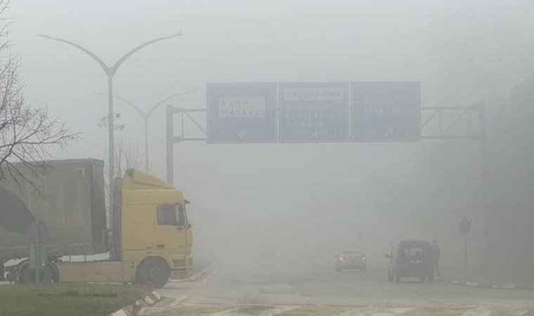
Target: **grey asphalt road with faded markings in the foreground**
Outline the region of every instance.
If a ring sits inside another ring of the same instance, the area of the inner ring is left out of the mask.
[[[534,291],[390,283],[379,272],[228,272],[171,282],[142,315],[523,315]]]

